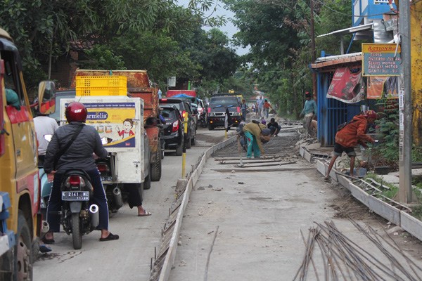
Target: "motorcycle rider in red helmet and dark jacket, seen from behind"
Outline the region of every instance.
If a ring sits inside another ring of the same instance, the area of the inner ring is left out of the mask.
[[[97,229],[101,230],[100,241],[119,239],[119,235],[114,235],[108,231],[106,193],[104,192],[100,174],[93,157],[94,153],[98,157],[107,157],[108,152],[103,148],[101,138],[96,129],[93,126],[85,126],[84,122],[87,119],[87,114],[87,109],[82,103],[69,103],[65,110],[68,124],[60,126],[56,130],[46,151],[44,170],[46,173],[54,173],[53,188],[51,188],[49,204],[47,206],[47,221],[49,222],[50,230],[43,238],[43,242],[46,244],[52,244],[54,242],[53,233],[60,230],[60,217],[57,215],[62,204],[60,184],[63,174],[70,169],[82,169],[91,178],[91,183],[94,187],[93,201],[94,204],[98,205],[99,209],[99,224]],[[80,126],[82,126],[82,129]],[[63,152],[61,156],[57,155],[60,147],[64,147],[78,129],[81,129],[79,135],[75,138],[75,141],[73,141],[68,150]],[[55,162],[56,155],[58,159]]]

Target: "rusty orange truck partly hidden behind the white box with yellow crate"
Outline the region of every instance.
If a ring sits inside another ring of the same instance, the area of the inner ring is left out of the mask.
[[[78,77],[127,77],[127,96],[142,98],[143,122],[151,150],[151,181],[160,181],[161,160],[164,157],[164,141],[162,131],[158,126],[158,88],[150,84],[146,70],[76,70],[72,86],[76,85]]]

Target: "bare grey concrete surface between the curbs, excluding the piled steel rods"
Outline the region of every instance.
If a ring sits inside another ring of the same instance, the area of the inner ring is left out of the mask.
[[[293,152],[293,138],[297,141],[294,132],[285,132],[265,145],[269,151],[279,148],[274,154],[286,154],[277,166],[258,163],[260,159],[239,168],[231,164],[238,161],[234,159],[238,157],[235,145],[207,160],[184,212],[169,280],[293,280],[305,256],[309,228],[325,221],[333,222],[350,240],[389,263],[347,214],[362,226],[370,225],[385,239],[390,232],[422,266],[418,240],[405,237],[399,228],[371,214],[341,185],[322,181],[321,164],[309,164],[298,157]],[[224,153],[233,158],[215,161]],[[316,268],[324,273],[323,263],[316,263]],[[316,280],[312,271],[309,267],[309,280]]]

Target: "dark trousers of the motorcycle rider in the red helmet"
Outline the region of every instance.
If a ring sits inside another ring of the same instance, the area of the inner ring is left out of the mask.
[[[99,224],[97,229],[108,229],[108,206],[106,192],[104,192],[103,183],[101,183],[100,172],[97,169],[86,171],[91,178],[91,184],[94,188],[92,202],[98,205]],[[49,205],[47,206],[47,221],[50,225],[50,231],[58,233],[60,231],[60,216],[56,213],[62,206],[60,185],[63,174],[54,175],[53,188],[51,188]],[[55,214],[51,214],[54,212]]]

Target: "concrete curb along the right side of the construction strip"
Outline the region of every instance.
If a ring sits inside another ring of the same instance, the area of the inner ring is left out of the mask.
[[[304,156],[307,154],[310,155],[310,152],[307,151],[305,147],[301,147],[300,155],[302,155],[303,158],[307,159],[309,163],[312,163],[312,157],[309,161],[309,157]],[[319,173],[324,176],[328,169],[328,164],[317,160],[316,169],[319,171]],[[418,240],[422,241],[422,221],[418,220],[417,218],[414,218],[410,214],[407,214],[407,212],[402,211],[401,209],[395,206],[392,206],[391,204],[383,202],[383,200],[380,200],[377,197],[369,195],[367,192],[359,188],[359,186],[354,185],[349,178],[335,174],[334,169],[331,170],[330,177],[333,181],[340,183],[345,188],[350,190],[353,197],[362,202],[362,204],[371,209],[371,211],[378,214],[379,216],[382,216],[391,223],[394,223],[396,226],[400,226],[408,233],[416,237]]]

